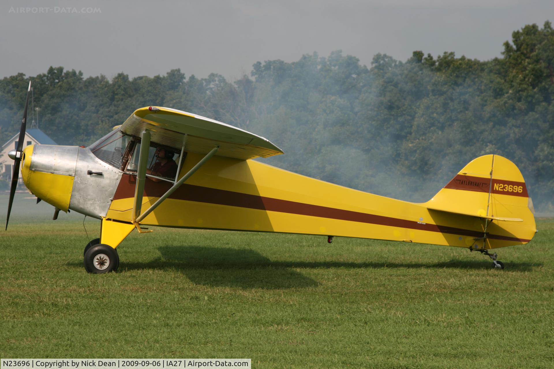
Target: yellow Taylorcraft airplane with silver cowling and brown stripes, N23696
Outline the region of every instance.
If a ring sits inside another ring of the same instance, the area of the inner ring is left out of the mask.
[[[29,84],[30,86],[30,84]],[[25,117],[20,135],[25,132]],[[282,154],[267,139],[213,119],[143,107],[90,147],[13,150],[27,188],[59,210],[101,220],[84,251],[90,273],[116,271],[116,247],[143,226],[301,233],[431,243],[490,256],[536,233],[523,176],[500,155],[472,160],[427,202],[389,199],[252,160]],[[177,156],[176,156],[177,155]],[[39,201],[39,200],[37,200]]]

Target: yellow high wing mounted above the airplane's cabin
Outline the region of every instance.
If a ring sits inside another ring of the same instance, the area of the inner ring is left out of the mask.
[[[141,137],[150,130],[152,141],[198,154],[219,147],[217,155],[235,159],[267,158],[283,154],[269,140],[254,133],[206,117],[166,107],[150,106],[135,110],[120,131]]]

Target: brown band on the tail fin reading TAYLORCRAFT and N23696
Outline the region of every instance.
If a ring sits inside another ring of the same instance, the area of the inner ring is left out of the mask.
[[[521,196],[528,198],[525,182],[509,181],[493,178],[490,186],[490,178],[475,177],[472,175],[458,174],[444,188],[452,190],[477,191],[493,194]]]

